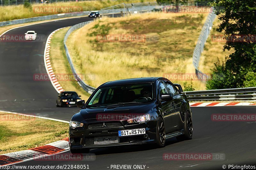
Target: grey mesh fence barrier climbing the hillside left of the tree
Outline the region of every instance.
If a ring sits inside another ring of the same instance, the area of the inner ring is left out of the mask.
[[[202,71],[200,71],[198,69],[198,67],[199,67],[199,61],[200,61],[201,54],[204,51],[204,44],[206,43],[206,40],[210,34],[210,31],[212,29],[212,24],[213,24],[213,21],[215,18],[216,18],[216,14],[214,13],[213,8],[212,8],[212,12],[209,13],[209,15],[204,23],[202,31],[197,40],[195,50],[193,52],[193,65],[196,69],[196,75],[198,78],[207,77],[207,75],[204,74]],[[201,79],[201,81],[205,81],[205,79]]]

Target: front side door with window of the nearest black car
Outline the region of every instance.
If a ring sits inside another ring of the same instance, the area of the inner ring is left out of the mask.
[[[162,94],[169,93],[163,81],[159,83],[158,91],[159,91],[160,99]],[[173,100],[161,101],[161,104],[162,104],[162,112],[164,114],[165,132],[166,134],[171,133],[173,132],[173,129],[172,129]]]

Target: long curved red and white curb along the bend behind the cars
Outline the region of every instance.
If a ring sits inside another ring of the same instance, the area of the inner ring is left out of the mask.
[[[66,27],[63,27],[63,28],[66,28]],[[47,41],[46,41],[46,45],[45,45],[45,49],[44,49],[44,65],[45,65],[45,69],[46,69],[46,72],[50,78],[50,81],[52,83],[52,86],[55,88],[55,90],[60,93],[60,92],[63,92],[64,89],[61,87],[60,83],[58,82],[58,80],[56,79],[56,76],[52,70],[52,65],[51,65],[51,61],[50,61],[50,49],[51,49],[51,46],[50,46],[50,43],[51,43],[51,39],[52,39],[52,35],[54,33],[56,33],[57,31],[63,29],[63,28],[59,28],[55,31],[53,31],[47,38]]]

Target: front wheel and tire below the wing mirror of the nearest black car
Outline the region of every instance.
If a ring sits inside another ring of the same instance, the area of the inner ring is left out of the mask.
[[[156,125],[156,145],[158,147],[164,147],[166,136],[165,136],[164,120],[160,117]]]

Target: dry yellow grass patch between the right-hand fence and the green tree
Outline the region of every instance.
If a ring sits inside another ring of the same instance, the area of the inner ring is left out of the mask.
[[[224,34],[224,32],[219,33],[216,31],[216,28],[218,27],[220,22],[221,21],[218,18],[216,18],[213,22],[212,31],[205,43],[204,51],[200,57],[199,70],[201,70],[203,73],[210,74],[212,72],[211,69],[214,68],[214,63],[217,62],[218,58],[220,59],[220,61],[225,61],[225,57],[229,56],[231,53],[234,52],[233,49],[231,49],[230,51],[226,50],[224,52],[223,46],[226,42],[217,42],[213,38],[213,36],[221,36]]]

